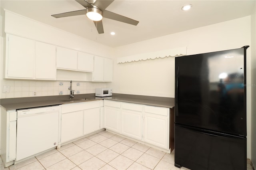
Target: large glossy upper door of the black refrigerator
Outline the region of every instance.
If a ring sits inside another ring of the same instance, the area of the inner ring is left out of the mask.
[[[244,48],[175,58],[175,123],[246,136]]]

